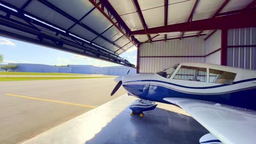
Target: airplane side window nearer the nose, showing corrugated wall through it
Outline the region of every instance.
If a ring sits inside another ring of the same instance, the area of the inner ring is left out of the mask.
[[[173,79],[206,82],[206,68],[182,65]]]

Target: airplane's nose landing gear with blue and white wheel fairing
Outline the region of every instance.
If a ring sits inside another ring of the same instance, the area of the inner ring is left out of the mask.
[[[129,106],[129,108],[132,110],[131,116],[139,114],[140,117],[143,117],[144,116],[143,111],[154,110],[157,105],[158,104],[155,104],[154,101],[150,101],[150,100],[144,100],[144,99],[135,100]]]

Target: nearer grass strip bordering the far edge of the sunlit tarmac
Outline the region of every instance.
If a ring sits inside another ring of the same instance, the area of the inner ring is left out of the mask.
[[[0,81],[33,81],[33,80],[67,80],[67,79],[98,79],[100,76],[88,77],[0,77]]]

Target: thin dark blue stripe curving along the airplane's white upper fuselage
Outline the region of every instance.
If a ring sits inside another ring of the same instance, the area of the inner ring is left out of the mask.
[[[236,81],[236,82],[233,82],[232,85],[235,85],[237,83],[247,82],[247,81],[254,81],[254,80],[256,80],[256,78]],[[127,82],[124,82],[124,83],[128,83],[128,82],[152,82],[152,81],[153,82],[167,83],[168,85],[173,85],[173,86],[178,86],[178,87],[183,87],[183,88],[193,88],[193,89],[208,89],[208,88],[217,88],[217,87],[223,87],[223,86],[230,86],[230,85],[223,84],[223,85],[210,86],[210,87],[188,87],[188,86],[177,85],[177,84],[171,83],[171,82],[159,81],[159,80],[137,80],[137,81],[127,81]]]

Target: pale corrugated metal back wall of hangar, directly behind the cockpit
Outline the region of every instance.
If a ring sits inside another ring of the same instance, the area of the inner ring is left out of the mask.
[[[202,38],[172,39],[141,44],[139,73],[155,73],[170,65],[181,62],[205,62],[204,57],[157,57],[157,56],[204,56]],[[149,57],[143,57],[149,56]],[[153,57],[152,57],[153,56]]]

